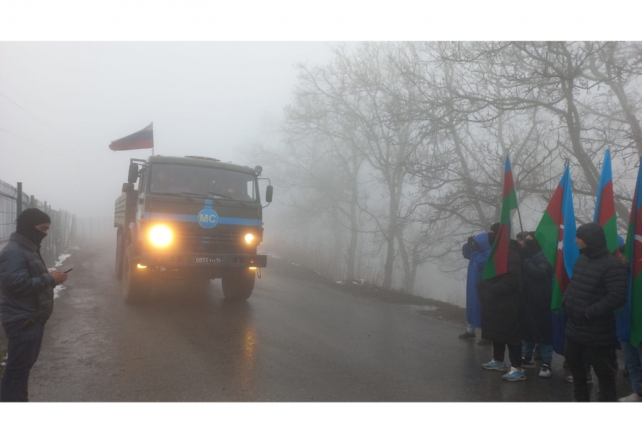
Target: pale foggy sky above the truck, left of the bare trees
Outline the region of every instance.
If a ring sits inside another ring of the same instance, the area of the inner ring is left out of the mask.
[[[111,216],[130,158],[109,143],[154,122],[155,153],[246,163],[280,119],[295,63],[324,42],[0,42],[0,179],[81,217]],[[264,166],[265,168],[265,166]],[[267,170],[266,170],[267,171]]]

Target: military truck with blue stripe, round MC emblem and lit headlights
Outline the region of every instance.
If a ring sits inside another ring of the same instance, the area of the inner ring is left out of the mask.
[[[267,263],[257,254],[264,225],[259,179],[268,181],[267,205],[273,187],[261,172],[204,156],[131,159],[114,209],[115,273],[125,302],[147,299],[154,279],[220,278],[226,299],[250,298]]]

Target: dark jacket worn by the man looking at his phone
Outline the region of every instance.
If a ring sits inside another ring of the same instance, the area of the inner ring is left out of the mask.
[[[0,251],[0,323],[35,316],[45,323],[54,310],[54,278],[38,246],[13,233]]]

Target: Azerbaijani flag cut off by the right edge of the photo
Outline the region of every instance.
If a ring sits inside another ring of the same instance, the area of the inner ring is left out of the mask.
[[[629,277],[628,308],[631,311],[630,343],[637,347],[642,341],[642,159],[638,169],[638,180],[631,206],[629,232],[624,255],[629,260],[631,273]]]

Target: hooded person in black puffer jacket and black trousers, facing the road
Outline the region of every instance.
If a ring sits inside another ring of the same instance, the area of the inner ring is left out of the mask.
[[[564,357],[572,373],[575,401],[589,401],[588,359],[597,375],[599,400],[614,402],[618,367],[615,311],[627,300],[626,270],[609,252],[600,225],[581,225],[575,236],[580,255],[562,295],[562,306],[568,315]]]

